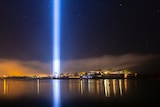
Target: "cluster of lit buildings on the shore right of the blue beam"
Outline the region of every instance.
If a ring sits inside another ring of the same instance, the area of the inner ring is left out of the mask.
[[[136,78],[137,73],[129,70],[101,70],[96,69],[88,72],[75,72],[75,73],[61,73],[59,78],[69,79],[111,79],[111,78]]]

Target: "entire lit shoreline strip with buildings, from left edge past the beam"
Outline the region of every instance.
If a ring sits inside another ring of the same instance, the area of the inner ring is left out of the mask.
[[[137,73],[129,70],[91,70],[88,72],[53,73],[53,75],[33,75],[33,76],[8,76],[0,75],[0,78],[32,78],[32,79],[116,79],[116,78],[136,78]]]

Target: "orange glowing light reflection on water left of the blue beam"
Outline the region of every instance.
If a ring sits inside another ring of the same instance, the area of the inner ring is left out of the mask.
[[[51,97],[51,80],[0,79],[1,97],[44,96]],[[48,96],[49,95],[49,96]]]

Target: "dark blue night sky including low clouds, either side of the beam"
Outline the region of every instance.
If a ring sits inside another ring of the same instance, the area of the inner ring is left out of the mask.
[[[160,71],[159,0],[61,1],[62,72]],[[26,72],[39,72],[42,66],[42,72],[51,70],[52,13],[52,0],[0,1],[3,73],[10,71],[4,67],[10,63]]]

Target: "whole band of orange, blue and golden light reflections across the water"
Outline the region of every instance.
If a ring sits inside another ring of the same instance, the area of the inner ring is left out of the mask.
[[[61,84],[60,84],[61,83]],[[53,87],[52,87],[53,86]],[[53,89],[53,92],[52,92]],[[127,93],[127,79],[89,79],[89,80],[25,80],[1,79],[0,96],[42,95],[60,99],[63,94],[104,95],[105,97],[123,96]],[[3,95],[2,95],[3,94]]]

